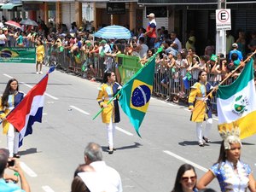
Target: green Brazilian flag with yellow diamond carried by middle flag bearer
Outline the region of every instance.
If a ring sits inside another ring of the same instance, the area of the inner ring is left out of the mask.
[[[153,90],[155,57],[142,67],[120,90],[119,104],[139,137],[139,128]]]

